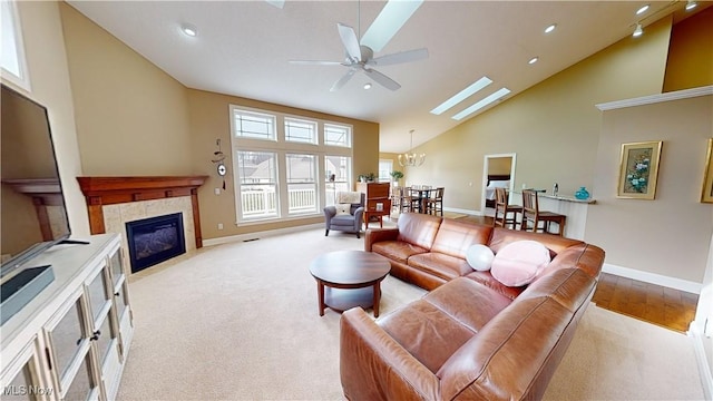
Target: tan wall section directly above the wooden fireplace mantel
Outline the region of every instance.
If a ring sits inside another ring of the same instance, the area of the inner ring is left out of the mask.
[[[60,3],[87,176],[194,173],[186,88]]]

